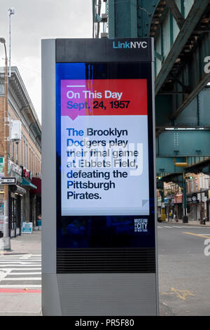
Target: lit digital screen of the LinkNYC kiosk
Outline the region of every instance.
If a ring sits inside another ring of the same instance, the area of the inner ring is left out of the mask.
[[[151,246],[150,71],[57,63],[58,247]]]

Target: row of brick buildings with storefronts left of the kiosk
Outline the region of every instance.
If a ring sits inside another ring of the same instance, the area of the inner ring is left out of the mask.
[[[0,68],[0,176],[3,174],[3,107],[4,69]],[[21,122],[19,140],[8,143],[8,176],[15,176],[16,185],[9,185],[10,237],[21,234],[22,222],[36,225],[41,213],[41,124],[31,103],[17,67],[8,77],[8,118]],[[0,185],[0,232],[3,230],[3,185]]]

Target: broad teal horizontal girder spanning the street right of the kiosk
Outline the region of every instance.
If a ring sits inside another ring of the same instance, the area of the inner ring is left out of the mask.
[[[210,130],[179,130],[162,132],[156,138],[157,157],[210,156]]]

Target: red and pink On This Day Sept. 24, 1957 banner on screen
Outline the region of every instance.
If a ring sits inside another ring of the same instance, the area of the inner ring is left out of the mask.
[[[147,114],[146,79],[61,81],[61,115],[126,116]]]

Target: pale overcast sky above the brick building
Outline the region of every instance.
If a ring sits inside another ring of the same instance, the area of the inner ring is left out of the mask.
[[[92,38],[92,0],[1,0],[0,37],[9,54],[8,8],[11,15],[11,65],[18,67],[41,122],[41,39]],[[0,66],[4,49],[0,44]]]

